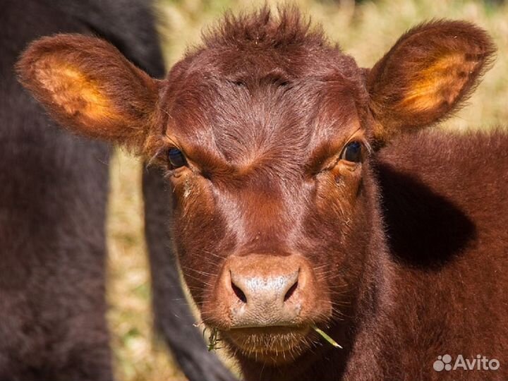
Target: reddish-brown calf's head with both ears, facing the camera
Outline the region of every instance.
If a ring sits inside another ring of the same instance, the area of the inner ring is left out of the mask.
[[[165,169],[202,320],[243,363],[282,365],[314,326],[340,339],[377,276],[377,147],[449,116],[493,52],[483,30],[437,21],[367,70],[296,11],[265,9],[226,16],[164,80],[80,35],[34,42],[18,73],[66,128]]]

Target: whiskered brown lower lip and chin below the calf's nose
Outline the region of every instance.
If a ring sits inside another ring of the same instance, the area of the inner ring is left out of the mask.
[[[238,327],[221,332],[223,339],[237,354],[251,360],[282,365],[294,361],[308,349],[310,325]]]

